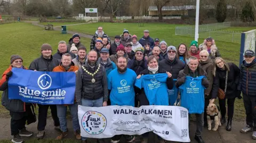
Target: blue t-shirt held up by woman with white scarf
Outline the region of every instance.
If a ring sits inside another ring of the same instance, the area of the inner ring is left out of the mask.
[[[149,105],[169,105],[166,79],[166,73],[142,75],[135,86],[144,88]]]

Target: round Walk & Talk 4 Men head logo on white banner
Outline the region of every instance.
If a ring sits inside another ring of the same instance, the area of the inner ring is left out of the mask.
[[[82,118],[82,126],[87,133],[97,135],[106,129],[107,119],[97,111],[88,111]]]

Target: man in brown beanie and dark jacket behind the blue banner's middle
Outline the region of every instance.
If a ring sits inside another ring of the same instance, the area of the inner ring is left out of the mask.
[[[60,64],[59,60],[54,58],[52,56],[52,46],[50,44],[43,44],[41,46],[41,57],[35,59],[33,62],[29,65],[29,70],[34,71],[47,71],[51,72],[56,66]],[[46,126],[46,120],[47,120],[47,112],[48,108],[51,108],[52,113],[52,119],[54,121],[54,129],[60,130],[60,122],[57,115],[57,106],[56,105],[42,105],[37,104],[38,109],[38,124],[37,124],[37,138],[43,139],[44,138],[44,130]]]

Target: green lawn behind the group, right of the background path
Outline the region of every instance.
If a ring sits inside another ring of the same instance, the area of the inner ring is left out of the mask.
[[[184,37],[175,35],[175,27],[181,26],[179,24],[165,24],[165,23],[145,23],[144,27],[138,27],[137,23],[89,23],[77,26],[68,26],[67,29],[71,31],[77,31],[93,35],[98,26],[103,27],[103,31],[114,39],[115,35],[121,35],[123,29],[129,30],[131,35],[137,35],[138,40],[143,36],[143,30],[147,29],[150,31],[150,37],[159,38],[165,40],[168,45],[178,47],[179,44],[185,43],[187,46],[190,45],[190,41],[194,40],[193,37]],[[207,38],[207,37],[205,37]],[[214,37],[213,37],[214,38]],[[198,43],[203,43],[204,39],[198,39]],[[239,52],[240,44],[227,43],[223,41],[216,41],[217,47],[220,49],[222,57],[225,57],[227,61],[239,63]],[[230,54],[232,53],[232,54]]]

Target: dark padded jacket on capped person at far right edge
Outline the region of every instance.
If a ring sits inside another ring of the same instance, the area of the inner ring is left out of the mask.
[[[240,69],[238,90],[248,96],[256,96],[256,58],[250,64],[243,61]]]

